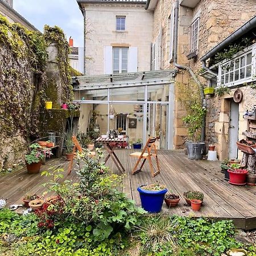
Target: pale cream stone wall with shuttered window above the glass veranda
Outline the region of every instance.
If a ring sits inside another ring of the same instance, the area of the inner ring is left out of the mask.
[[[149,71],[152,12],[143,4],[86,4],[86,75],[104,73],[104,46],[138,47],[138,71]],[[115,31],[116,16],[126,16],[126,30]]]

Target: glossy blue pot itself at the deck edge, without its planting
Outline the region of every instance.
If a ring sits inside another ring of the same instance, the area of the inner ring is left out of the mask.
[[[158,213],[162,209],[164,195],[168,191],[167,188],[160,191],[151,191],[138,187],[139,196],[141,197],[141,206],[150,213]]]

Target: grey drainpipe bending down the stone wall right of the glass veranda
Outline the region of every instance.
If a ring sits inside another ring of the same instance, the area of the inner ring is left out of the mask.
[[[176,68],[187,70],[190,75],[192,76],[192,79],[196,82],[196,84],[200,87],[200,94],[201,94],[201,105],[204,105],[204,87],[197,79],[195,73],[192,71],[191,68],[187,66],[183,66],[177,63],[177,38],[178,38],[178,20],[179,20],[179,0],[176,0],[175,2],[175,9],[174,9],[174,61],[173,64]],[[171,60],[169,61],[171,63]],[[202,121],[202,129],[201,129],[201,141],[205,141],[205,115],[203,117]]]

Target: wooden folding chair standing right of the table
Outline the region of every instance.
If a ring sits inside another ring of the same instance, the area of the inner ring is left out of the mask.
[[[137,163],[135,164],[134,168],[133,168],[133,172],[132,174],[137,174],[137,172],[140,172],[142,170],[142,167],[144,166],[144,163],[146,162],[146,160],[148,159],[149,165],[150,165],[150,171],[151,171],[151,176],[154,177],[156,174],[159,174],[160,172],[160,167],[159,167],[159,162],[158,162],[158,154],[157,154],[157,150],[156,150],[156,146],[155,146],[155,141],[157,138],[149,138],[146,145],[144,146],[142,152],[134,152],[132,154],[130,154],[130,156],[133,156],[135,158],[139,158]],[[151,153],[151,150],[154,149],[154,153]],[[156,166],[157,166],[157,170],[154,172],[154,166],[152,164],[152,158],[155,158],[156,161]],[[143,159],[143,162],[141,164],[141,167],[139,167],[138,170],[137,167],[139,165],[139,162],[141,162],[141,160]]]

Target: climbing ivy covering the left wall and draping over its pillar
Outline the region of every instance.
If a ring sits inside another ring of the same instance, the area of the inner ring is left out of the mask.
[[[58,49],[62,98],[72,100],[64,32],[49,26],[44,34],[30,31],[0,15],[0,133],[10,137],[21,132],[24,138],[38,134],[39,116],[47,99],[47,47],[52,43]]]

